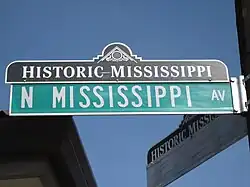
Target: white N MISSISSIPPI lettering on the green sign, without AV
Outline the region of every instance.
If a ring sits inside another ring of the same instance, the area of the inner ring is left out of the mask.
[[[22,86],[20,92],[21,108],[35,107],[33,103],[40,95],[37,94],[35,98],[34,93],[46,95],[46,102],[51,101],[52,108],[126,108],[129,105],[134,108],[151,108],[162,107],[163,99],[165,99],[165,105],[168,103],[166,101],[169,101],[171,107],[176,107],[177,99],[187,107],[192,107],[189,85],[45,85]]]

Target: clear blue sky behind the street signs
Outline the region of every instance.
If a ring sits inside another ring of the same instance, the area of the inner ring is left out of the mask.
[[[240,75],[233,0],[0,1],[0,103],[9,106],[4,73],[13,60],[92,59],[111,42],[143,59],[219,59]],[[174,131],[181,115],[74,117],[100,187],[146,187],[149,148]],[[247,187],[244,138],[171,187]]]

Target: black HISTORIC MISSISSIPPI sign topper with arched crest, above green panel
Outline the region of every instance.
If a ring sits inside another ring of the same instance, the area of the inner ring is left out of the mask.
[[[190,81],[229,82],[227,66],[219,60],[143,60],[116,42],[92,60],[17,60],[5,73],[8,84]]]

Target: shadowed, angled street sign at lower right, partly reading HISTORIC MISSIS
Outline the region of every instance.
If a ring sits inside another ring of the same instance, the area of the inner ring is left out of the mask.
[[[164,187],[247,135],[241,115],[196,115],[147,155],[147,187]]]

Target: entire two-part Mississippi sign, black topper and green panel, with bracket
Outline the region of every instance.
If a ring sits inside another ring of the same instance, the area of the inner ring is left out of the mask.
[[[118,42],[92,60],[14,61],[5,82],[10,115],[241,112],[223,62],[143,60]]]

